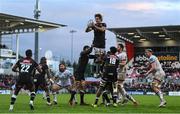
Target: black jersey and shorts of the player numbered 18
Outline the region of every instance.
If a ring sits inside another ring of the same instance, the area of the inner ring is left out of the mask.
[[[115,82],[117,81],[117,69],[119,65],[119,59],[116,55],[110,55],[105,58],[103,66],[103,80]]]

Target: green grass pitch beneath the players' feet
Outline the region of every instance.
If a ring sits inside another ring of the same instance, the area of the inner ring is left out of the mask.
[[[0,95],[0,113],[8,113],[10,95]],[[35,110],[29,109],[29,96],[19,95],[14,107],[16,113],[180,113],[180,97],[166,96],[166,108],[158,108],[159,99],[157,96],[134,96],[140,103],[135,107],[131,102],[125,106],[119,107],[105,107],[99,106],[93,108],[91,106],[69,106],[69,94],[61,94],[58,97],[58,105],[47,106],[46,101],[42,99],[42,95],[37,95],[35,99]],[[77,96],[79,97],[79,96]],[[86,95],[85,100],[87,103],[94,102],[95,95]],[[101,101],[100,101],[101,102]],[[99,103],[100,103],[99,102]]]

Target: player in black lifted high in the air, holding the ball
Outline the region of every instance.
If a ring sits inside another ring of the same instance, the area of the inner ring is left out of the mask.
[[[95,23],[90,20],[85,32],[94,31],[94,52],[95,52],[95,73],[99,74],[100,65],[105,54],[105,32],[106,32],[106,23],[103,23],[103,17],[101,14],[95,14]]]

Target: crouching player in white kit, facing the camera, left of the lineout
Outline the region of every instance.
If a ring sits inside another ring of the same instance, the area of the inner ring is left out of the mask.
[[[57,104],[57,95],[60,89],[67,89],[71,94],[74,93],[72,91],[72,85],[75,82],[74,76],[71,74],[69,70],[66,69],[66,65],[64,63],[59,64],[59,71],[55,74],[55,83],[52,85],[52,93],[54,97],[54,104]]]

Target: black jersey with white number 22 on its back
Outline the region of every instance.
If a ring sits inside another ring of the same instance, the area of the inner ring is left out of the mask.
[[[38,64],[31,58],[23,58],[20,59],[16,65],[19,68],[20,75],[29,75],[32,76],[34,73],[35,68]]]

